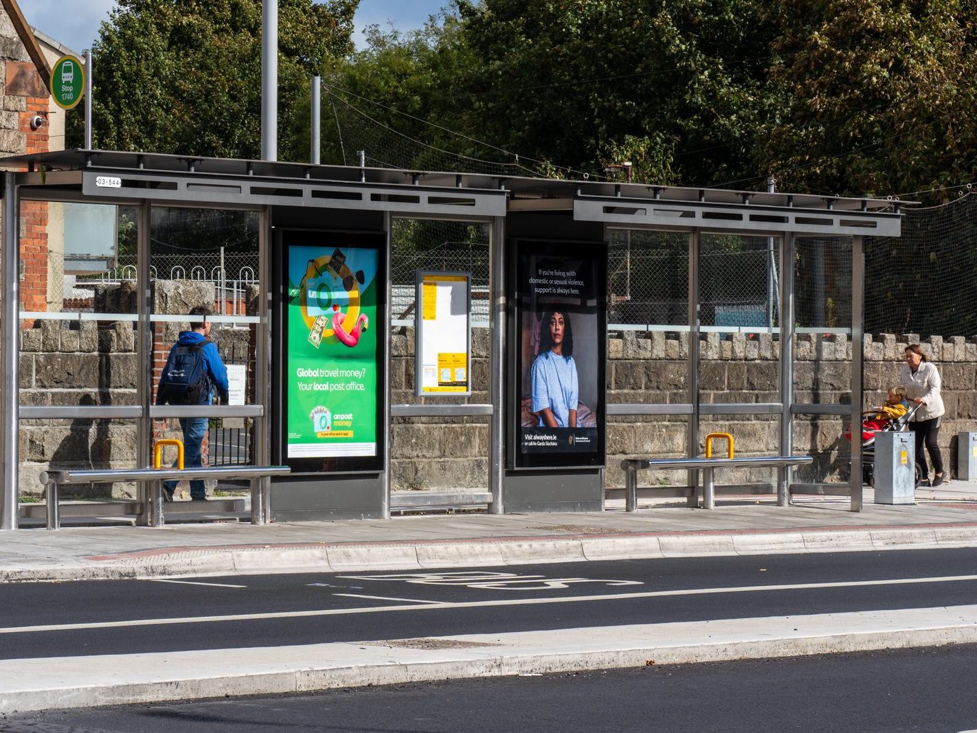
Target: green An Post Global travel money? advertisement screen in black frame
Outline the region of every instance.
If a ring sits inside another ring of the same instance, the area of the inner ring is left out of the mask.
[[[295,240],[285,263],[284,457],[298,470],[375,469],[380,250],[327,232],[286,233]]]

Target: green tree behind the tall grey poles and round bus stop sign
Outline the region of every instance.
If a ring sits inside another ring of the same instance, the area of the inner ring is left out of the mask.
[[[352,52],[358,4],[279,0],[279,150],[296,148],[309,77]],[[119,0],[93,53],[97,148],[259,157],[261,0]]]

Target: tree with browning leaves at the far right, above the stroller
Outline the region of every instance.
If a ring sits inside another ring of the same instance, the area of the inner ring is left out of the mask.
[[[977,10],[969,0],[778,0],[758,144],[782,189],[899,194],[977,175]]]

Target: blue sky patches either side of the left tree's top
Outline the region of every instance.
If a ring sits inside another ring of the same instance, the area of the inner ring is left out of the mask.
[[[98,37],[99,23],[108,19],[115,0],[19,0],[21,12],[31,25],[72,51],[81,53]],[[393,22],[400,30],[419,28],[436,15],[446,0],[361,0],[353,40],[363,46],[362,30]]]

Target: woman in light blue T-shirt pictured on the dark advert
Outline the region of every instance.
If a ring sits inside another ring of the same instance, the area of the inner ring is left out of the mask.
[[[531,410],[539,427],[576,427],[579,384],[573,362],[573,328],[565,311],[543,313],[531,385]]]

